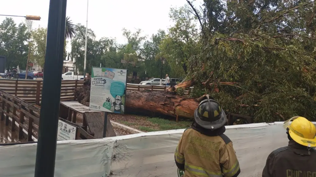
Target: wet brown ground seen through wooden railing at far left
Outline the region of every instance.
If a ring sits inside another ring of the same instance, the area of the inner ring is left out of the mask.
[[[10,127],[10,124],[5,126],[5,121],[0,121],[0,144],[19,142],[17,128],[15,127],[15,131],[11,132]]]

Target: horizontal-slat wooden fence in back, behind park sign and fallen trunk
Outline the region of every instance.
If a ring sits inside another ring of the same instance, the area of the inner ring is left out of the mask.
[[[61,81],[61,101],[75,100],[75,89],[81,87],[82,80],[62,80]],[[127,90],[150,90],[162,91],[169,86],[160,85],[140,85],[140,84],[127,84]],[[16,96],[27,103],[40,105],[42,100],[43,80],[30,80],[30,79],[0,79],[0,90],[7,94]]]

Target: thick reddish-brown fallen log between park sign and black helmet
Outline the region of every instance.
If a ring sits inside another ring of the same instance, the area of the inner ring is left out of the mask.
[[[130,91],[126,92],[127,112],[155,113],[172,117],[194,118],[198,102],[169,92]]]

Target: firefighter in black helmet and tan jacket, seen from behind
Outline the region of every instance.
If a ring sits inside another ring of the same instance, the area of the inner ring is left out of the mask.
[[[238,176],[239,162],[232,141],[223,134],[227,118],[218,102],[207,95],[195,110],[194,119],[174,153],[177,167],[184,170],[183,176]]]

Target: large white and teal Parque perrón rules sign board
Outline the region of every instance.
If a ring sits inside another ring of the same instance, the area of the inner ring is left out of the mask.
[[[124,114],[127,70],[92,67],[90,110]]]

